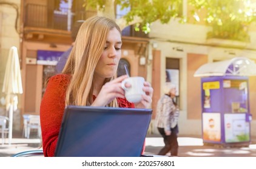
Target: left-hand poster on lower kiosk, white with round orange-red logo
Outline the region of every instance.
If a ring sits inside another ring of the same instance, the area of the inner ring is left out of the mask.
[[[221,140],[220,113],[203,113],[203,139]]]

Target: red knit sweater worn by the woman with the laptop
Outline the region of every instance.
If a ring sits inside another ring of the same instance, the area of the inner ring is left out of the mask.
[[[44,156],[54,156],[65,109],[65,97],[70,75],[58,74],[49,79],[40,106],[42,148]],[[119,107],[134,108],[133,103],[117,98]],[[144,153],[145,145],[143,146]]]

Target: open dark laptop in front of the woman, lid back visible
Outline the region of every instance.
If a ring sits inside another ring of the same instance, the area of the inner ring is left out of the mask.
[[[67,106],[57,157],[139,157],[152,109]]]

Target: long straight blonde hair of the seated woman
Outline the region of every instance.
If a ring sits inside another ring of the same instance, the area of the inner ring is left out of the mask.
[[[62,71],[70,74],[71,80],[66,92],[66,105],[89,106],[93,92],[93,74],[107,40],[110,30],[120,27],[112,19],[93,16],[79,28],[73,49]],[[104,83],[114,77],[106,78]],[[118,107],[116,99],[109,105]]]

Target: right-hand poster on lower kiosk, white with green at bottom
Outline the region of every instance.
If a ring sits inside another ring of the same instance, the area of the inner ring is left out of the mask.
[[[225,141],[243,142],[249,141],[249,123],[246,122],[245,113],[226,113],[224,114]]]

